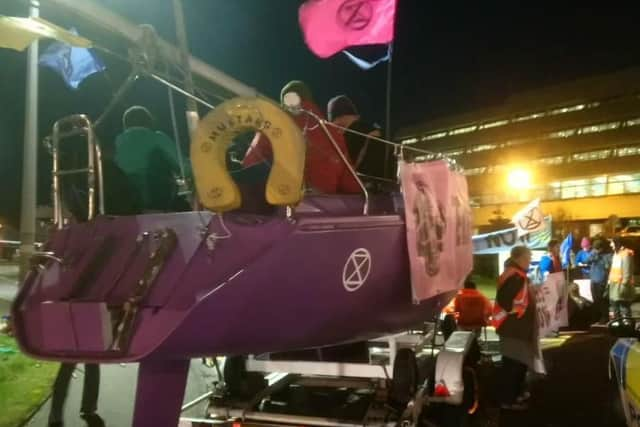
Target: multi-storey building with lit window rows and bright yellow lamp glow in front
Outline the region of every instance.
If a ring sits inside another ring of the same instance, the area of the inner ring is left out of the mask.
[[[464,167],[481,230],[538,197],[586,233],[612,215],[640,217],[640,68],[521,93],[397,139]]]

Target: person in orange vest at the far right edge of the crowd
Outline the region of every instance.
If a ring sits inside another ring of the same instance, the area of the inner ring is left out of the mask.
[[[609,270],[609,317],[631,317],[635,297],[633,283],[633,251],[624,247],[619,237],[611,240],[614,254]]]

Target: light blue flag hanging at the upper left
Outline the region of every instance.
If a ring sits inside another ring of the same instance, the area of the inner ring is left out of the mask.
[[[70,32],[78,34],[74,28]],[[51,43],[40,55],[38,63],[60,74],[72,89],[78,89],[84,79],[106,69],[102,60],[92,50],[61,42]]]

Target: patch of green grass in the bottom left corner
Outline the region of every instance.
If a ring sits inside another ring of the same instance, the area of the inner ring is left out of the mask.
[[[16,427],[51,392],[57,363],[41,362],[20,353],[13,338],[0,335],[0,427]]]

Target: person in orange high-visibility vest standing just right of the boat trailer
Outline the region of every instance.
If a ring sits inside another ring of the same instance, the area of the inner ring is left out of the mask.
[[[503,409],[527,408],[525,391],[527,368],[534,369],[537,347],[535,294],[529,286],[527,270],[531,250],[525,246],[511,249],[511,258],[498,279],[492,321],[500,337],[502,367],[499,371],[499,395]]]

